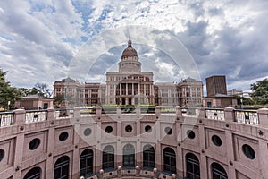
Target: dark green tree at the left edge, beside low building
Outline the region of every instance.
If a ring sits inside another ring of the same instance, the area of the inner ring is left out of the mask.
[[[0,107],[9,109],[14,107],[16,99],[21,98],[21,90],[10,86],[9,81],[5,80],[6,73],[0,69]]]

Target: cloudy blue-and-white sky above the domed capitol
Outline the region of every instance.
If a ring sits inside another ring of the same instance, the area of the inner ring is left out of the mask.
[[[268,76],[267,7],[266,0],[1,1],[0,67],[15,87],[52,88],[66,76],[105,81],[131,36],[155,81],[224,74],[228,89],[249,90]]]

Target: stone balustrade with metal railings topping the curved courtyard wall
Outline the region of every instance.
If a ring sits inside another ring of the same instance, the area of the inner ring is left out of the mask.
[[[172,109],[172,110],[171,110]],[[65,111],[65,112],[64,112]],[[81,112],[83,111],[83,112]],[[86,112],[85,112],[86,111]],[[165,111],[165,112],[163,112]],[[111,112],[111,111],[109,111]],[[61,115],[59,115],[61,114]],[[63,115],[65,114],[65,115]],[[115,113],[112,113],[120,117],[121,115],[155,115],[158,118],[161,115],[174,115],[178,119],[185,116],[196,116],[198,118],[207,118],[214,120],[222,120],[225,122],[237,122],[241,124],[254,124],[267,127],[268,126],[268,108],[260,108],[256,111],[253,110],[237,110],[233,107],[225,107],[221,109],[216,108],[183,108],[183,107],[170,107],[168,112],[163,110],[163,107],[155,107],[155,113],[142,113],[141,107],[136,107],[132,113],[125,113],[121,110],[121,107],[116,107]],[[61,109],[55,110],[54,108],[48,108],[46,110],[25,111],[24,109],[16,109],[13,112],[0,113],[0,127],[13,125],[13,124],[25,124],[34,123],[38,121],[53,121],[59,118],[79,118],[83,116],[96,116],[100,119],[106,114],[102,107],[96,107],[95,113],[89,113],[87,109],[74,108],[74,109]]]

